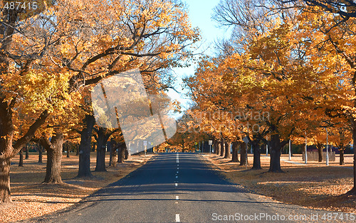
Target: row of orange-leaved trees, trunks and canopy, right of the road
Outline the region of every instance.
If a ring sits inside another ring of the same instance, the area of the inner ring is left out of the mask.
[[[271,172],[290,139],[322,147],[325,128],[340,153],[352,138],[356,148],[355,6],[342,1],[345,15],[322,2],[221,0],[212,18],[233,34],[186,80],[192,125],[216,141],[248,138],[257,161],[268,143]]]

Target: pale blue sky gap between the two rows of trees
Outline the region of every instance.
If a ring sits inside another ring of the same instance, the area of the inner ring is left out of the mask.
[[[226,28],[216,27],[216,23],[211,20],[212,10],[219,4],[220,0],[185,0],[189,7],[189,18],[193,27],[198,27],[201,31],[201,39],[204,43],[202,48],[207,50],[206,54],[212,54],[214,52],[214,41],[218,38],[229,38],[229,31]],[[194,65],[183,69],[174,69],[177,76],[177,82],[175,88],[177,91],[182,92],[178,94],[173,90],[169,91],[169,97],[177,99],[182,103],[182,107],[187,108],[189,99],[184,95],[186,91],[180,87],[182,84],[182,77],[187,77],[194,74]]]

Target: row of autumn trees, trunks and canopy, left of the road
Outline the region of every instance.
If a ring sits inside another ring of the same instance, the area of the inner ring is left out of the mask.
[[[199,40],[180,1],[38,1],[0,11],[0,202],[10,202],[10,160],[33,138],[46,148],[46,183],[61,183],[63,141],[80,134],[78,177],[90,176],[95,118],[90,90],[140,69],[148,92],[164,94]],[[28,2],[28,1],[24,1]],[[26,5],[27,6],[27,5]],[[120,129],[95,129],[103,145]],[[104,153],[105,155],[105,153]]]

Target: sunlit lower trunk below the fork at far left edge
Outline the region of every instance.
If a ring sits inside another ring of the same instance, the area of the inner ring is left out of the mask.
[[[10,158],[0,158],[0,203],[11,202]]]

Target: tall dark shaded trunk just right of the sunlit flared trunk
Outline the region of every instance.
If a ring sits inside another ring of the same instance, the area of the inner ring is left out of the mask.
[[[85,127],[81,132],[80,146],[79,146],[79,170],[77,178],[93,177],[90,172],[90,143],[95,124],[95,117],[93,115],[85,115]]]

